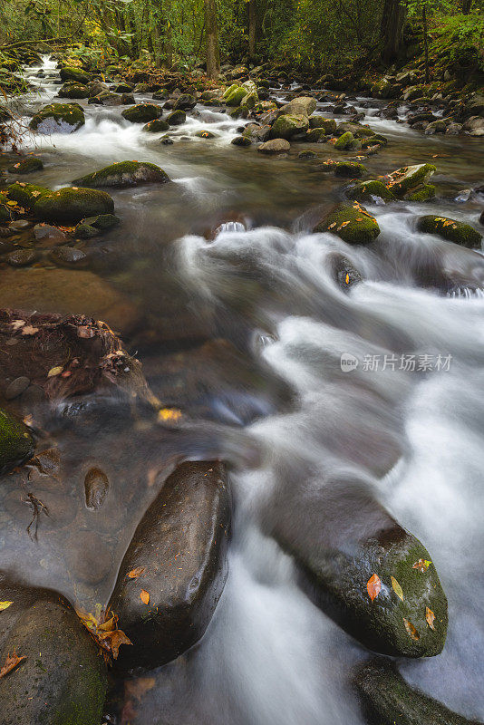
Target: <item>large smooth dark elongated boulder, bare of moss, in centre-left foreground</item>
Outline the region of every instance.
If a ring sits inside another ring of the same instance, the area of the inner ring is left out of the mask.
[[[111,596],[133,643],[120,651],[122,668],[169,662],[205,632],[227,577],[229,518],[220,463],[183,463],[169,476],[134,533]],[[143,574],[130,579],[139,566]]]

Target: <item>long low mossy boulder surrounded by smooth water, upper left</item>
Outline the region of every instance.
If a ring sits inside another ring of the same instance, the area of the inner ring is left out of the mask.
[[[121,189],[140,184],[164,184],[167,181],[168,174],[156,164],[148,161],[120,161],[81,179],[74,179],[73,184],[90,189]]]

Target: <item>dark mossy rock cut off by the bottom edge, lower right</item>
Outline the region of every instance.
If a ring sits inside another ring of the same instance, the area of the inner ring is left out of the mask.
[[[411,687],[394,662],[363,662],[353,683],[369,725],[479,725]]]

